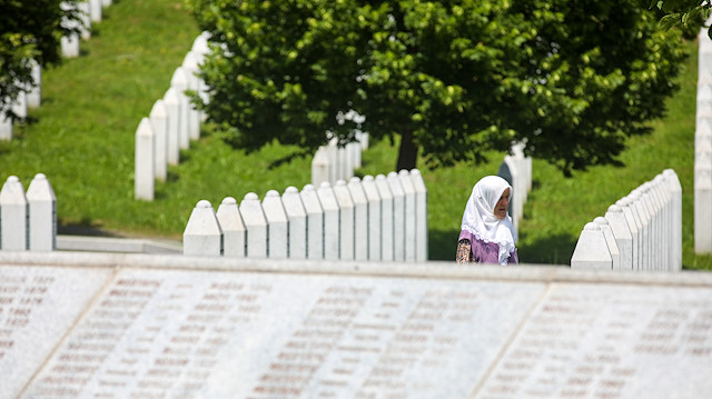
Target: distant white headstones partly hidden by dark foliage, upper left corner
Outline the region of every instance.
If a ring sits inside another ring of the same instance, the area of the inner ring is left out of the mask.
[[[81,39],[89,39],[91,37],[91,22],[101,21],[102,7],[111,6],[111,0],[89,0],[79,2],[78,4],[81,16]],[[60,3],[61,8],[67,9],[67,3]],[[69,21],[63,21],[63,26],[71,28]],[[70,37],[61,38],[61,53],[66,58],[79,57],[79,41],[80,36],[77,33]],[[36,60],[29,60],[32,66],[32,82],[33,84],[28,87],[26,91],[19,93],[16,101],[12,103],[12,112],[21,119],[27,118],[28,108],[37,108],[41,104],[42,93],[42,68]],[[0,112],[0,140],[12,140],[13,133],[13,120]]]

